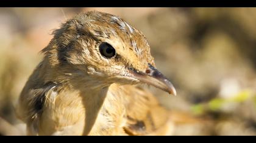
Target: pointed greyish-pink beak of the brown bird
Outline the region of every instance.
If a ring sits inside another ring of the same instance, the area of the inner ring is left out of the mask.
[[[129,71],[132,73],[132,78],[153,85],[154,87],[160,88],[161,90],[176,96],[176,89],[171,82],[151,64],[148,64],[148,69],[146,69],[145,72],[135,70],[134,68],[129,68]]]

